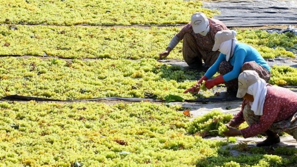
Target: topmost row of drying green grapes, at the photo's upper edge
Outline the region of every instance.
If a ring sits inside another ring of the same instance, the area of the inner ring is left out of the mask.
[[[195,12],[218,11],[199,0],[1,0],[0,23],[48,25],[185,24]]]

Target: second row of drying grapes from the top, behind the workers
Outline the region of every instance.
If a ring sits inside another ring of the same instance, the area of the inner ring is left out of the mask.
[[[0,26],[0,55],[57,56],[67,58],[155,58],[165,50],[179,27],[56,27]],[[297,36],[266,31],[238,31],[240,42],[257,48],[264,58],[295,57],[287,51]],[[182,59],[182,42],[168,58]]]

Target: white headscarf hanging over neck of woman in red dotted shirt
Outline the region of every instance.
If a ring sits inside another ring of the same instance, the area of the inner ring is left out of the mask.
[[[265,96],[267,94],[267,83],[265,80],[258,80],[256,83],[251,84],[247,88],[247,93],[253,95],[254,101],[249,102],[251,106],[251,110],[255,115],[261,116],[263,115],[263,106],[265,102]]]

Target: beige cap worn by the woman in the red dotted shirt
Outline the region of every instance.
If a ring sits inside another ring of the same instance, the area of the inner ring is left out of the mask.
[[[238,90],[236,97],[242,98],[247,93],[248,86],[260,80],[257,72],[253,70],[245,70],[238,76]]]

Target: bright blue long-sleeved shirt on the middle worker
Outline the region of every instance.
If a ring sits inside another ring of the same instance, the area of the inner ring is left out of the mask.
[[[216,72],[219,71],[219,66],[221,62],[226,60],[226,55],[220,53],[218,59],[215,63],[207,70],[205,76],[210,79]],[[233,66],[233,70],[223,76],[225,82],[231,81],[233,79],[238,78],[241,68],[244,63],[249,61],[255,61],[260,66],[264,67],[268,71],[270,71],[270,67],[263,59],[261,54],[252,46],[249,46],[245,43],[237,43],[234,48],[234,53],[232,58],[229,60],[231,65]]]

